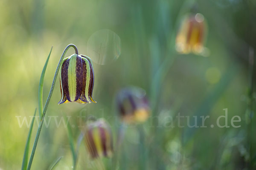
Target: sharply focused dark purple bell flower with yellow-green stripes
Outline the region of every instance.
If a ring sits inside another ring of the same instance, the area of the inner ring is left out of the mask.
[[[63,59],[60,71],[61,100],[58,104],[95,102],[92,98],[93,84],[93,63],[89,57],[73,54]]]

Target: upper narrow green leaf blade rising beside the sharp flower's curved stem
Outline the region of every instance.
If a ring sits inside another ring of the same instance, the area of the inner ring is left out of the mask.
[[[39,117],[41,118],[42,117],[42,114],[43,114],[43,85],[44,85],[44,74],[45,74],[45,71],[46,71],[46,68],[47,68],[47,65],[48,65],[48,61],[49,61],[49,58],[50,58],[50,55],[52,53],[52,48],[51,48],[51,51],[47,57],[47,60],[44,64],[44,68],[43,68],[43,71],[41,73],[41,77],[40,77],[40,82],[39,82],[39,88],[38,88],[38,110],[39,110]]]

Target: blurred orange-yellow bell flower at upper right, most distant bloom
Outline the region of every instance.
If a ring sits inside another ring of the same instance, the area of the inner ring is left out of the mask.
[[[200,13],[186,16],[176,37],[176,50],[182,54],[201,54],[204,51],[206,23]]]

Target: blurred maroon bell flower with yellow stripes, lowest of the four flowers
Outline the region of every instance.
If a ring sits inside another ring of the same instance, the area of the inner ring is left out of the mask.
[[[113,155],[113,136],[110,126],[104,119],[87,124],[84,133],[91,158]]]

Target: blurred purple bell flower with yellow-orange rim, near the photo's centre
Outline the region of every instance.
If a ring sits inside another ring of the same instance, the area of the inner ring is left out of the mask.
[[[150,108],[145,91],[141,88],[124,88],[116,97],[117,111],[126,123],[145,122]]]

